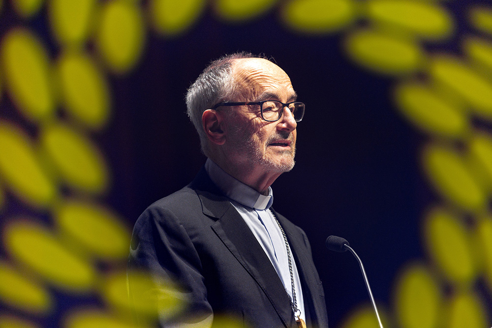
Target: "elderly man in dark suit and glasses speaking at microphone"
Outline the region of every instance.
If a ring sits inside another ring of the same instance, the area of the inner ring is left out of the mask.
[[[198,176],[144,211],[132,270],[175,281],[186,305],[162,327],[328,327],[306,234],[271,208],[271,184],[294,167],[305,105],[287,74],[250,54],[213,61],[191,85],[188,115],[208,157]],[[163,304],[158,305],[164,306]]]

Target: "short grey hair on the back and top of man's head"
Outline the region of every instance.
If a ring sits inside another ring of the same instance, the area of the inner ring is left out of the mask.
[[[208,155],[208,139],[202,127],[203,112],[220,102],[232,99],[236,95],[237,84],[232,75],[232,61],[244,58],[263,57],[240,52],[214,60],[203,70],[186,93],[186,112],[198,132],[202,152],[205,155]]]

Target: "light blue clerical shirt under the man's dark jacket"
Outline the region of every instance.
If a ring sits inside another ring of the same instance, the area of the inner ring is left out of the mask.
[[[274,201],[272,188],[268,187],[268,196],[264,196],[227,174],[211,159],[207,159],[205,170],[209,174],[210,179],[230,199],[231,204],[238,210],[241,217],[243,217],[277,271],[285,291],[292,299],[292,282],[290,279],[285,240],[273,213],[270,211],[270,207]],[[297,307],[301,311],[301,318],[306,321],[301,280],[299,279],[294,256],[292,256],[292,249],[290,258],[292,261]]]

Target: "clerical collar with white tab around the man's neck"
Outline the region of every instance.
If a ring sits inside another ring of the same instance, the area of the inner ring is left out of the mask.
[[[230,176],[210,158],[205,162],[205,170],[215,185],[230,199],[252,209],[268,209],[274,202],[273,191],[268,187],[268,196],[260,194],[250,186]]]

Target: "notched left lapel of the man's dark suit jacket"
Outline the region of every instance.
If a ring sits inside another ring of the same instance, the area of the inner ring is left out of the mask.
[[[265,251],[238,211],[202,171],[192,187],[202,202],[203,213],[216,219],[212,229],[261,287],[285,327],[294,327],[289,298]]]

